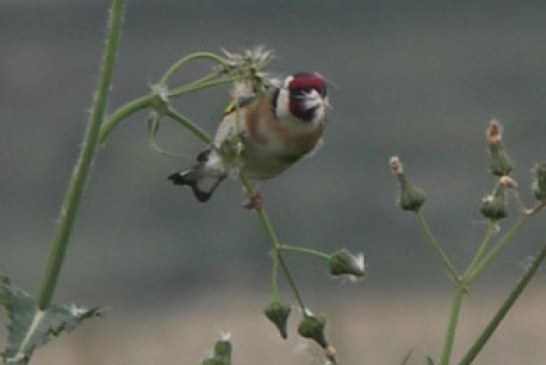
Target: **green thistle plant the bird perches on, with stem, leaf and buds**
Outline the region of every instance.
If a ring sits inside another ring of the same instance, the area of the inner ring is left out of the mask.
[[[238,106],[241,100],[263,93],[275,83],[275,80],[264,71],[264,67],[271,61],[272,55],[265,48],[258,47],[241,53],[197,52],[181,58],[169,67],[159,81],[151,86],[147,95],[127,102],[107,116],[106,102],[111,89],[124,8],[125,0],[113,0],[101,75],[87,133],[60,209],[40,291],[34,298],[13,285],[6,276],[0,277],[0,304],[5,308],[9,317],[9,341],[2,353],[5,364],[28,364],[34,350],[46,344],[53,336],[70,331],[83,320],[103,313],[100,308],[82,309],[73,305],[57,305],[53,303],[53,298],[65,253],[70,243],[70,234],[82,192],[89,177],[90,167],[96,157],[98,147],[108,139],[116,127],[133,114],[139,111],[148,111],[150,143],[158,152],[168,153],[156,141],[160,125],[166,121],[179,124],[208,147],[216,148],[213,146],[212,138],[208,132],[177,110],[172,104],[172,100],[207,88],[228,86],[228,98],[231,100],[227,110],[233,111],[238,116]],[[193,82],[172,86],[173,76],[194,62],[209,62],[211,64],[210,72]],[[229,142],[225,145],[225,150],[221,151],[222,156],[226,161],[229,161],[233,177],[241,183],[245,194],[250,198],[255,195],[255,187],[239,168],[244,163],[243,145],[237,138]],[[325,334],[326,317],[314,315],[304,302],[284,256],[289,253],[315,256],[324,260],[325,269],[333,276],[347,276],[353,280],[364,275],[364,256],[352,254],[346,249],[327,254],[314,249],[283,245],[273,229],[264,207],[257,205],[254,210],[273,250],[271,302],[264,310],[265,317],[277,327],[282,338],[289,336],[288,318],[293,311],[292,306],[285,302],[280,295],[279,276],[282,274],[300,309],[301,320],[297,333],[315,341],[324,349],[325,357],[335,364],[336,351]],[[223,337],[216,343],[214,355],[204,360],[203,364],[230,364],[231,351],[232,345],[229,338]]]

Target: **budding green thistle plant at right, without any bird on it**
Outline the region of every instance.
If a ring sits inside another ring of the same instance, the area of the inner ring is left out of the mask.
[[[516,180],[510,175],[514,169],[514,163],[506,152],[501,132],[501,125],[496,120],[491,121],[487,128],[486,142],[489,149],[490,173],[496,178],[496,181],[491,193],[487,194],[481,201],[480,212],[487,221],[484,237],[481,243],[477,245],[476,251],[464,271],[459,271],[455,268],[444,251],[443,246],[430,229],[422,212],[425,203],[423,191],[415,187],[406,176],[399,157],[395,156],[390,160],[391,171],[399,182],[400,208],[405,211],[411,211],[416,215],[427,241],[443,264],[447,276],[454,285],[451,312],[440,359],[438,362],[435,362],[429,357],[427,358],[428,364],[438,363],[440,365],[448,365],[451,363],[459,314],[461,312],[464,297],[471,291],[473,284],[481,277],[484,271],[494,263],[495,259],[497,259],[510,242],[513,241],[515,235],[523,226],[546,206],[546,165],[544,163],[538,164],[534,170],[535,179],[532,184],[532,193],[535,197],[535,202],[531,208],[527,208],[519,197]],[[514,205],[518,209],[518,218],[510,227],[508,227],[508,229],[503,230],[501,222],[509,214],[509,198],[514,201]],[[504,231],[503,234],[501,234],[502,231]],[[496,235],[499,234],[500,237],[494,242]],[[478,336],[474,344],[460,360],[459,365],[471,364],[478,356],[479,352],[485,346],[502,319],[512,308],[531,278],[535,275],[545,257],[546,246],[534,257],[527,272],[506,298],[497,313],[484,328],[483,332]],[[406,363],[408,358],[409,356],[403,363]]]

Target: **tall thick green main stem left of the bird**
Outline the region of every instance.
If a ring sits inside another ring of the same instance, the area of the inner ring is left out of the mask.
[[[112,82],[112,74],[116,60],[116,53],[121,37],[121,26],[123,20],[123,11],[125,0],[114,0],[110,11],[108,22],[108,35],[105,45],[105,52],[101,66],[101,76],[98,82],[97,91],[94,98],[93,109],[89,116],[88,128],[85,135],[80,157],[64,197],[61,212],[57,220],[53,241],[49,252],[46,268],[42,276],[40,293],[38,296],[38,306],[40,309],[46,309],[50,304],[55,292],[55,287],[59,279],[61,266],[64,261],[66,249],[74,226],[74,220],[78,211],[81,195],[89,169],[93,162],[93,157],[97,149],[100,126],[104,118],[106,101]]]

